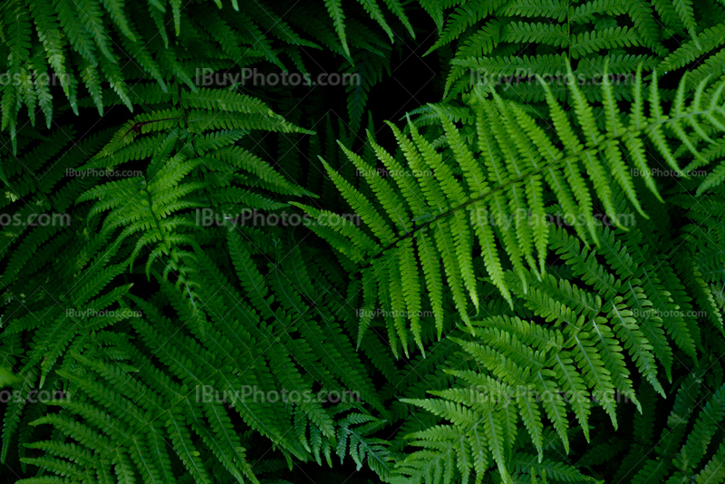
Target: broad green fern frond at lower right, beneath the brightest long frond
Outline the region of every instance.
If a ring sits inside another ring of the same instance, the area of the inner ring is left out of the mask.
[[[618,211],[628,212],[622,193],[614,201]],[[672,383],[673,366],[689,373],[692,367],[718,364],[713,358],[700,362],[698,353],[707,354],[707,334],[714,332],[713,341],[722,341],[721,322],[704,327],[710,317],[694,320],[692,315],[719,315],[720,305],[711,297],[691,297],[698,287],[679,262],[689,250],[676,236],[652,239],[658,223],[662,220],[640,218],[636,232],[597,227],[600,247],[590,249],[564,227],[551,227],[550,248],[570,272],[557,269],[552,271],[557,276],[546,274],[541,281],[532,277],[524,293],[508,270],[514,308],[472,318],[472,340],[462,332],[448,335],[463,351],[449,357],[444,370],[456,382],[430,390],[429,398],[401,399],[448,423],[410,426],[408,438],[422,449],[401,460],[397,471],[439,484],[473,477],[479,481],[495,466],[503,481],[516,481],[509,466],[517,462],[520,440],[536,450],[529,465],[538,460],[548,468],[552,441],[569,453],[571,412],[579,424],[576,431],[589,441],[596,408],[617,428],[621,398],[640,413],[651,413],[645,405],[652,405],[657,394],[666,396],[662,369]],[[658,247],[648,247],[643,237],[656,240]],[[666,254],[673,254],[672,260]],[[639,375],[631,373],[633,368]],[[637,384],[647,385],[652,395],[641,393]],[[603,433],[600,426],[601,421],[594,425],[598,435]],[[521,427],[526,429],[523,436]]]

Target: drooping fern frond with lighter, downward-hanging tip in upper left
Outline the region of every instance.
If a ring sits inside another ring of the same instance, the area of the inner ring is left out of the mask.
[[[288,195],[303,193],[255,155],[233,144],[249,129],[305,131],[290,125],[263,103],[241,94],[225,92],[214,96],[208,90],[195,93],[179,89],[179,97],[178,107],[141,114],[128,121],[99,154],[82,167],[111,168],[151,155],[145,176],[97,185],[83,193],[76,203],[99,200],[89,217],[111,210],[103,219],[101,237],[108,237],[119,228],[122,230],[117,237],[121,241],[131,235],[138,237],[129,257],[130,267],[140,251],[149,247],[147,276],[156,259],[169,257],[164,263],[163,276],[169,276],[169,272],[175,274],[177,284],[185,286],[186,292],[193,295],[185,263],[194,258],[189,247],[196,247],[197,243],[182,229],[194,227],[197,221],[176,215],[176,212],[208,206],[207,200],[224,207],[235,196],[237,203],[248,203],[247,208],[281,207],[270,199],[246,193],[242,187],[230,186],[228,177],[241,168],[258,177],[265,189]],[[219,131],[219,128],[227,130]],[[139,134],[150,133],[154,135],[133,142]],[[199,169],[194,181],[181,183],[192,171]],[[192,296],[189,303],[198,305],[200,301]]]

